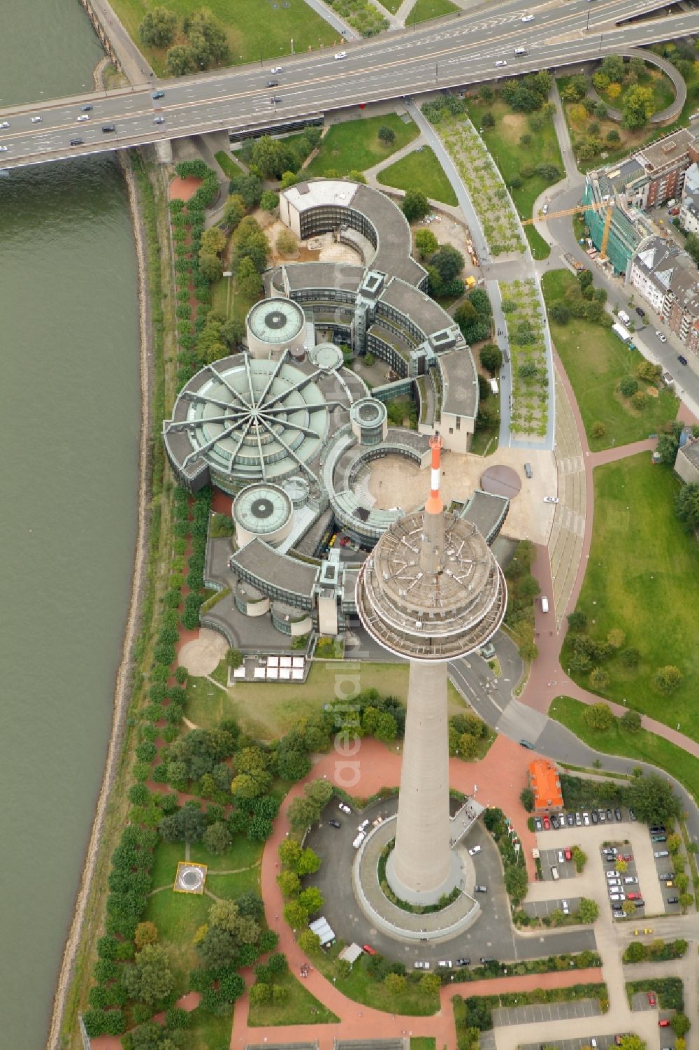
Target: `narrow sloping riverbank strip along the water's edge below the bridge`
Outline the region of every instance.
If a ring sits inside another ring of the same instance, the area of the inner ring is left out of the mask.
[[[141,427],[139,439],[139,497],[136,510],[136,541],[131,581],[131,594],[124,631],[122,657],[116,671],[114,686],[114,702],[112,711],[111,732],[107,748],[107,758],[104,777],[97,801],[94,819],[87,845],[85,865],[80,888],[76,900],[72,922],[68,931],[61,968],[59,971],[56,995],[51,1011],[51,1022],[48,1032],[47,1050],[59,1050],[61,1035],[68,1004],[68,995],[73,978],[79,975],[78,958],[86,938],[86,918],[88,905],[96,904],[96,876],[100,863],[108,863],[111,846],[105,840],[104,831],[108,816],[110,796],[120,772],[127,714],[131,699],[133,677],[135,671],[135,645],[142,627],[143,600],[148,580],[148,537],[150,530],[150,503],[152,497],[152,470],[150,456],[150,434],[152,428],[152,394],[154,361],[149,345],[155,345],[153,340],[152,309],[150,287],[148,280],[147,246],[141,203],[129,153],[118,154],[124,173],[129,196],[129,208],[133,224],[133,236],[136,250],[137,294],[139,294],[139,329],[140,329],[140,386],[141,386]],[[102,909],[92,907],[91,922],[99,923]],[[87,933],[89,940],[89,933]],[[75,1018],[73,1018],[75,1020]]]

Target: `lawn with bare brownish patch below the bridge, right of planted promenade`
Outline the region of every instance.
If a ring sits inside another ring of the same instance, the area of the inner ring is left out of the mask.
[[[512,112],[497,94],[491,103],[482,102],[479,98],[468,101],[468,116],[479,129],[481,118],[485,112],[492,113],[495,126],[483,128],[481,132],[483,140],[510,189],[520,215],[522,218],[531,218],[534,201],[547,186],[552,184],[552,180],[534,174],[531,178],[525,178],[520,189],[510,188],[510,183],[515,175],[521,175],[523,165],[536,168],[539,164],[554,164],[563,177],[564,163],[553,122],[549,121],[542,131],[534,132],[529,130],[526,116]],[[531,135],[528,146],[520,145],[523,134]],[[534,258],[548,258],[550,249],[541,234],[531,226],[525,226],[525,233]]]

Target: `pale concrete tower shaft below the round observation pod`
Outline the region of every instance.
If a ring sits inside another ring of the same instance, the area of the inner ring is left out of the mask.
[[[415,894],[439,897],[449,872],[447,665],[410,660],[396,846],[388,882],[395,892],[408,900]]]

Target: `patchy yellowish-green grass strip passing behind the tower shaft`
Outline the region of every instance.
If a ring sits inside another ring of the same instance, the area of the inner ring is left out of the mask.
[[[384,696],[407,698],[408,667],[405,664],[338,664],[314,663],[308,681],[236,682],[228,693],[207,678],[190,678],[187,684],[187,717],[205,729],[217,726],[221,718],[233,715],[241,728],[258,739],[272,740],[282,736],[303,715],[332,704],[336,690],[348,690],[348,684],[359,689],[378,689]],[[344,695],[344,694],[343,694]],[[463,711],[465,704],[449,684],[449,710]],[[228,865],[235,867],[238,865]],[[241,866],[241,865],[240,865]]]

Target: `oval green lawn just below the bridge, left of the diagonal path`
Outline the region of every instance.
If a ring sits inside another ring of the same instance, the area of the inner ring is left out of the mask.
[[[394,131],[396,138],[389,145],[379,141],[380,127],[389,127]],[[334,124],[321,142],[316,156],[303,169],[304,174],[312,178],[330,170],[339,171],[341,175],[351,171],[364,171],[390,156],[397,149],[407,146],[418,134],[412,121],[405,124],[397,113]]]

